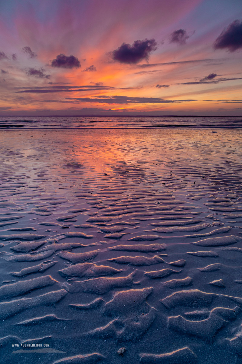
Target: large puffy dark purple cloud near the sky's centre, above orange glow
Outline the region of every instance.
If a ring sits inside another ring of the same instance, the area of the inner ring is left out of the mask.
[[[155,39],[136,40],[132,44],[123,43],[122,46],[111,52],[112,59],[121,63],[138,63],[157,49]]]

